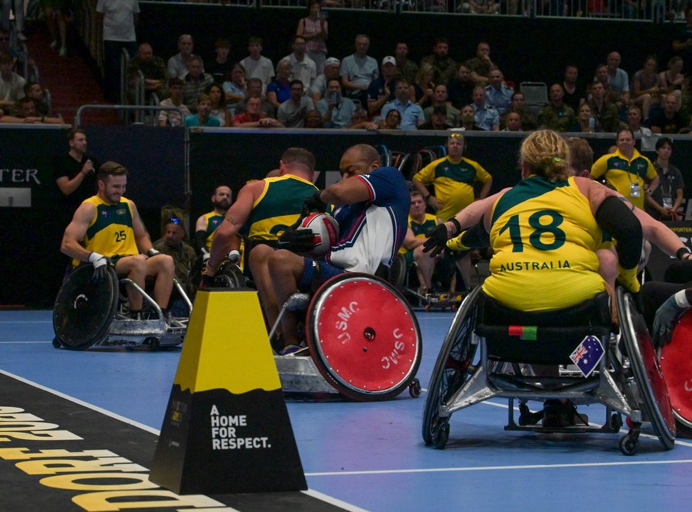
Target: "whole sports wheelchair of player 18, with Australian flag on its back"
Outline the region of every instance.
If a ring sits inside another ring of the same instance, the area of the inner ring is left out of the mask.
[[[604,296],[605,295],[605,296]],[[675,443],[671,401],[644,318],[632,297],[616,291],[620,341],[610,335],[608,296],[561,311],[525,313],[502,306],[487,297],[480,286],[468,295],[451,324],[428,385],[423,418],[426,444],[442,449],[450,434],[450,417],[475,403],[493,397],[509,399],[505,430],[534,432],[618,432],[621,414],[629,417],[629,432],[619,449],[634,455],[639,448],[641,423],[653,426],[666,450]],[[537,326],[537,327],[536,327]],[[567,326],[567,327],[565,327]],[[575,376],[529,376],[528,365],[570,365],[575,347],[585,337],[599,340],[602,356],[592,373]],[[475,358],[480,346],[480,360]],[[619,354],[622,351],[623,356]],[[514,400],[520,402],[519,422],[514,420]],[[528,400],[570,399],[575,403],[605,405],[603,426],[538,426]]]

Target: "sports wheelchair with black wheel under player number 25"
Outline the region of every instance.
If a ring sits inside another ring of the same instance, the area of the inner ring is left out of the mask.
[[[188,318],[163,318],[158,304],[134,281],[118,280],[109,266],[107,277],[93,280],[93,266],[82,265],[63,282],[53,307],[53,347],[85,350],[89,347],[174,347],[180,345],[188,328]],[[143,297],[154,320],[134,320],[125,315],[120,285],[132,286]],[[175,290],[192,311],[192,303],[178,280]]]

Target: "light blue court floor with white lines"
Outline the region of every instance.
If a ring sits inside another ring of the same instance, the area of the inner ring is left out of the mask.
[[[369,511],[689,510],[692,443],[678,439],[666,452],[650,430],[626,457],[617,448],[622,432],[504,432],[507,404],[494,401],[455,413],[445,450],[425,446],[425,389],[453,313],[417,315],[419,399],[406,392],[384,403],[287,399],[311,491]],[[179,349],[67,351],[52,339],[51,311],[0,311],[0,370],[158,432]],[[580,412],[605,419],[599,406]],[[0,493],[2,486],[0,475]]]

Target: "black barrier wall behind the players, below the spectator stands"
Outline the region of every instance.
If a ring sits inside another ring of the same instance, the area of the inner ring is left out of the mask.
[[[114,160],[129,169],[127,197],[140,210],[152,238],[159,236],[160,209],[185,206],[185,131],[147,127],[87,127],[89,153],[101,162]],[[367,131],[267,131],[262,129],[208,129],[189,134],[190,219],[210,210],[212,190],[230,185],[235,194],[248,180],[261,179],[278,167],[281,154],[302,146],[316,155],[320,177],[336,172],[347,147],[367,143],[393,152],[417,152],[441,145],[444,132],[376,133]],[[478,161],[493,175],[497,192],[520,179],[518,149],[522,134],[466,134],[467,158]],[[590,137],[598,158],[614,143],[613,136]],[[30,189],[30,207],[9,207],[0,192],[0,264],[3,280],[0,307],[52,307],[68,259],[60,253],[60,240],[73,211],[56,199],[53,159],[67,151],[66,129],[48,127],[0,128],[0,190]],[[639,143],[637,147],[640,147]],[[652,152],[644,152],[654,158]],[[686,183],[692,183],[692,138],[675,137],[673,164]],[[686,192],[688,197],[689,193]],[[17,199],[19,201],[19,199]],[[4,201],[4,202],[3,202]],[[690,218],[689,205],[684,208]]]

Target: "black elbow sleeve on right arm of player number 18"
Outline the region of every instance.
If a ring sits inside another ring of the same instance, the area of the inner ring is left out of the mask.
[[[617,240],[617,259],[622,268],[635,268],[641,256],[641,224],[619,198],[603,200],[596,212],[599,226]]]

